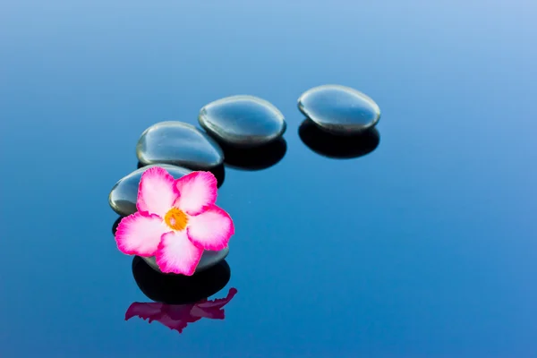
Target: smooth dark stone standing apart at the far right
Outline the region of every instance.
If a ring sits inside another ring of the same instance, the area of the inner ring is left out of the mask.
[[[353,135],[379,123],[380,108],[358,90],[339,85],[312,88],[298,98],[298,108],[326,132]]]

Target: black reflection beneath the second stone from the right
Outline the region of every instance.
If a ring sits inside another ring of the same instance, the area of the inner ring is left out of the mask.
[[[240,170],[262,170],[276,165],[286,156],[287,142],[278,138],[256,148],[238,148],[220,143],[224,150],[224,164]]]

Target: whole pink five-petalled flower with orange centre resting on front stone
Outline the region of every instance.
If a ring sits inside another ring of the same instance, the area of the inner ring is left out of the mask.
[[[203,250],[218,251],[234,234],[233,220],[215,205],[217,179],[192,172],[175,180],[154,166],[141,175],[137,212],[115,232],[120,251],[155,256],[162,272],[192,276]]]

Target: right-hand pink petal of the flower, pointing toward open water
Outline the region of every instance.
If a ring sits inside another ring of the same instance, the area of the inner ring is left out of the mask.
[[[189,217],[186,232],[196,246],[218,251],[227,246],[229,238],[234,234],[234,225],[226,211],[210,205],[200,215]]]

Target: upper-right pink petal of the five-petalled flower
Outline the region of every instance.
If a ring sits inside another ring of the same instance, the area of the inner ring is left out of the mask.
[[[175,181],[179,198],[175,207],[189,215],[197,215],[217,200],[217,178],[210,172],[192,172]]]

